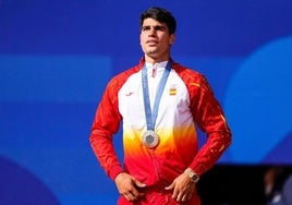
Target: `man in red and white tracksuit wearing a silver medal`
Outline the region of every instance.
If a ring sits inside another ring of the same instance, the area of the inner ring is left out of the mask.
[[[109,82],[96,112],[90,144],[121,194],[118,204],[200,204],[196,182],[231,143],[206,79],[170,56],[175,27],[165,9],[141,15],[144,57]],[[121,121],[124,167],[112,143]],[[196,124],[207,134],[199,150]]]

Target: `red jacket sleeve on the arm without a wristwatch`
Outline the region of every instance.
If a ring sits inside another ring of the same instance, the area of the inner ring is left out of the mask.
[[[89,142],[106,173],[114,180],[123,171],[113,147],[113,134],[119,131],[121,114],[118,109],[119,81],[111,80],[98,105]]]

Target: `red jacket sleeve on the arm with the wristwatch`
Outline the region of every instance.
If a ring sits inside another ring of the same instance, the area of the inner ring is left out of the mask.
[[[198,75],[188,83],[191,110],[207,141],[190,165],[198,176],[209,170],[231,144],[231,131],[207,80]]]

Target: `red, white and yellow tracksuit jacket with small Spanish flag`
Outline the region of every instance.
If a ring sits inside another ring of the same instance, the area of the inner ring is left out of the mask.
[[[204,75],[171,62],[155,125],[159,144],[153,149],[141,141],[146,131],[141,80],[145,60],[114,76],[107,85],[89,140],[101,167],[112,180],[126,171],[147,185],[169,185],[187,167],[202,176],[230,145],[230,129]],[[151,105],[163,69],[158,68],[155,77],[148,69]],[[123,125],[123,166],[112,143],[120,123]],[[207,136],[199,150],[197,128]]]

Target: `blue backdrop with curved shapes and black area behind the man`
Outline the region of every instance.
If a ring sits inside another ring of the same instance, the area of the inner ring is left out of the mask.
[[[203,205],[266,203],[267,171],[292,166],[291,0],[0,0],[1,205],[115,204],[88,137],[153,5],[177,17],[172,58],[206,75],[233,133]]]

